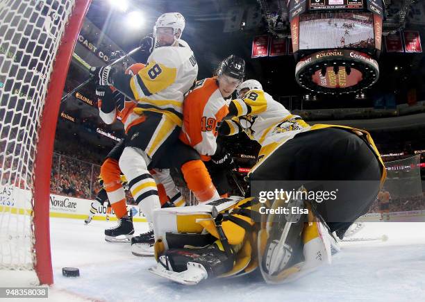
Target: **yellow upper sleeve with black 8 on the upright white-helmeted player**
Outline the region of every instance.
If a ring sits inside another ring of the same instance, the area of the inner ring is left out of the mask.
[[[143,97],[149,97],[164,90],[176,81],[177,68],[167,67],[154,60],[147,67],[140,69],[130,81],[131,91],[136,101]]]

